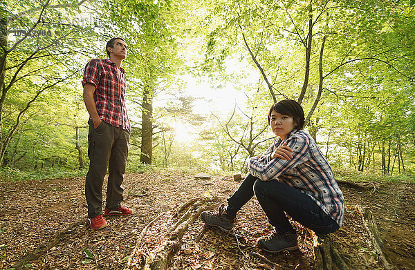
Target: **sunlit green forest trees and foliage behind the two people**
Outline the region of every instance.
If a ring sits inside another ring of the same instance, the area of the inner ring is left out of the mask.
[[[270,105],[295,99],[335,170],[413,175],[414,5],[1,1],[1,171],[84,173],[84,66],[122,37],[129,171],[243,171],[274,139]]]

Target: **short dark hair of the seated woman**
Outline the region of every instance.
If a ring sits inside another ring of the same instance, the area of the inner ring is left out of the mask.
[[[282,115],[293,117],[295,129],[304,128],[304,110],[295,100],[284,99],[271,106],[270,110],[268,110],[268,124],[270,124],[271,113],[273,110]]]

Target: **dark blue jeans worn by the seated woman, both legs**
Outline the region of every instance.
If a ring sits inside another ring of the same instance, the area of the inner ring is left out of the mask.
[[[248,174],[239,189],[228,198],[226,212],[232,218],[237,211],[253,197],[257,197],[259,204],[266,213],[268,222],[276,231],[285,233],[293,231],[285,213],[297,220],[300,224],[312,229],[315,233],[333,233],[339,229],[337,222],[305,193],[294,189],[279,181],[261,181]],[[285,213],[284,213],[285,212]]]

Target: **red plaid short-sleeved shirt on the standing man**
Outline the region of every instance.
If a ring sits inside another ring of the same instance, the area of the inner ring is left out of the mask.
[[[93,99],[102,121],[112,126],[122,126],[123,129],[130,131],[131,124],[125,106],[127,82],[124,68],[120,70],[120,78],[118,78],[116,64],[110,59],[92,59],[85,66],[82,86],[87,83],[95,86]]]

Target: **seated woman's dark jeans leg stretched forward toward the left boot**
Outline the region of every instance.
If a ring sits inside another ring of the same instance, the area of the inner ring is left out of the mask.
[[[256,180],[256,177],[250,174],[246,175],[245,180],[243,180],[237,191],[228,198],[226,213],[231,218],[235,218],[237,211],[254,196],[254,183]]]

